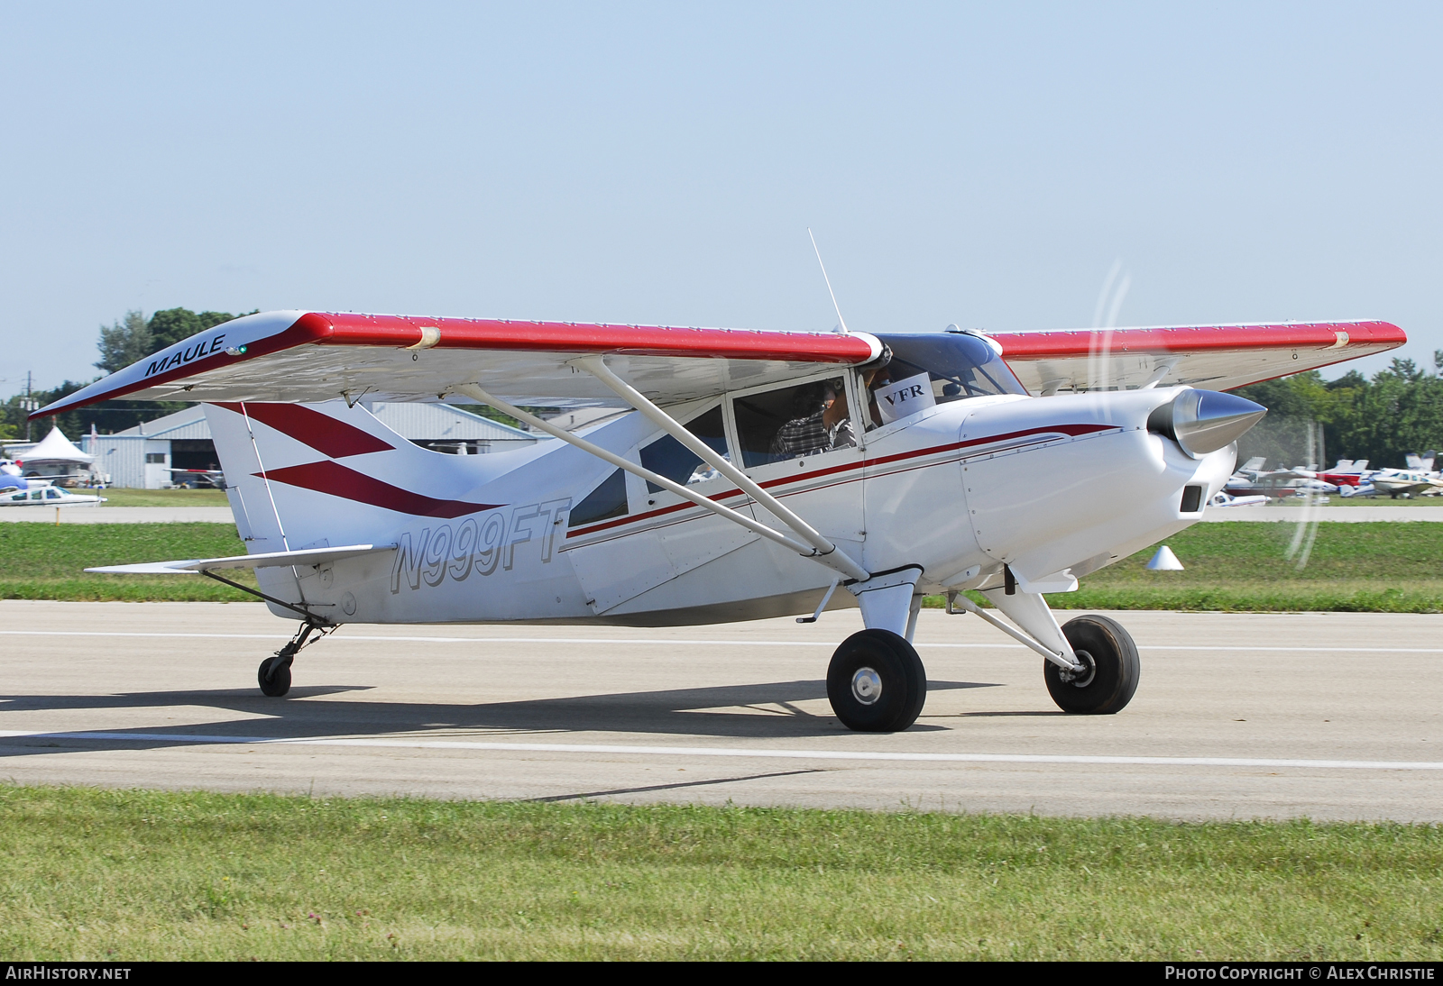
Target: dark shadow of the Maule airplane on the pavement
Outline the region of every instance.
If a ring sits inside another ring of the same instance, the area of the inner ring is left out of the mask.
[[[994,688],[987,682],[928,682],[929,692],[962,688]],[[35,752],[65,752],[79,748],[114,748],[115,732],[133,732],[144,747],[175,745],[175,741],[149,741],[147,734],[193,734],[206,737],[263,737],[286,740],[302,737],[385,737],[416,732],[431,740],[506,740],[535,734],[564,738],[576,732],[642,732],[713,738],[791,738],[846,732],[830,709],[824,714],[798,708],[801,702],[827,698],[827,682],[766,682],[724,685],[655,692],[582,695],[573,698],[531,699],[524,702],[485,702],[479,705],[442,705],[421,702],[328,701],[323,698],[369,690],[365,686],[293,688],[286,699],[268,699],[253,689],[192,692],[131,692],[120,695],[7,695],[0,696],[0,712],[76,712],[107,709],[173,709],[177,706],[229,709],[258,719],[215,719],[185,725],[141,728],[97,727],[56,729],[66,737],[0,738],[0,757]],[[10,728],[26,728],[23,716]],[[945,729],[931,724],[912,727],[918,732]],[[110,734],[105,740],[87,741],[85,732]],[[460,734],[460,735],[457,735]],[[560,734],[560,735],[558,735]],[[59,744],[59,745],[55,745]],[[127,744],[128,745],[128,744]]]

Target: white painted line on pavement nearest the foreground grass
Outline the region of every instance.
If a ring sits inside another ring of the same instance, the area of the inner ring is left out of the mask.
[[[214,737],[188,732],[30,732],[0,729],[6,740],[173,742],[183,745],[362,747],[381,750],[469,750],[491,752],[625,754],[642,757],[730,757],[941,764],[1097,764],[1124,767],[1296,767],[1302,770],[1443,770],[1443,763],[1401,760],[1281,760],[1266,757],[1088,757],[1079,754],[926,754],[851,750],[746,750],[739,747],[629,747],[582,742],[470,742],[462,740],[374,740],[326,737]]]

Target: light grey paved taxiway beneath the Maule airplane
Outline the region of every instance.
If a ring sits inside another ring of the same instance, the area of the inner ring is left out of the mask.
[[[928,610],[922,718],[861,735],[824,685],[856,610],[811,626],[351,626],[267,699],[255,667],[293,624],[258,604],[4,601],[0,780],[1443,822],[1443,616],[1113,616],[1143,656],[1120,715],[1063,715],[1032,652]]]

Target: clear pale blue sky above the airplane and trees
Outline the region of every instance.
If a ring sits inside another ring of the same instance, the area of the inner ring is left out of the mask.
[[[1443,347],[1439,4],[0,3],[0,394],[127,308]],[[1362,363],[1377,369],[1385,359]]]

